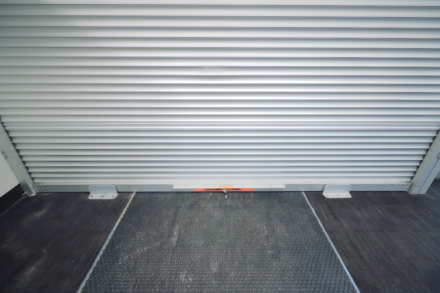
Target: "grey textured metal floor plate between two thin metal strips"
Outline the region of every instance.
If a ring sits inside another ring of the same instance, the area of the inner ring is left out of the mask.
[[[356,292],[301,192],[138,192],[84,292]]]

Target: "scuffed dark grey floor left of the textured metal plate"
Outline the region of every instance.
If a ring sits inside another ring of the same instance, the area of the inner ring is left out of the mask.
[[[76,292],[128,203],[130,193],[20,199],[0,215],[0,292]]]

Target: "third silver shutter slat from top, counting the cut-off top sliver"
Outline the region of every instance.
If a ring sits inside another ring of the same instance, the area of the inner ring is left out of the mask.
[[[437,15],[436,15],[437,16]],[[2,16],[0,27],[268,27],[439,29],[438,18]]]

